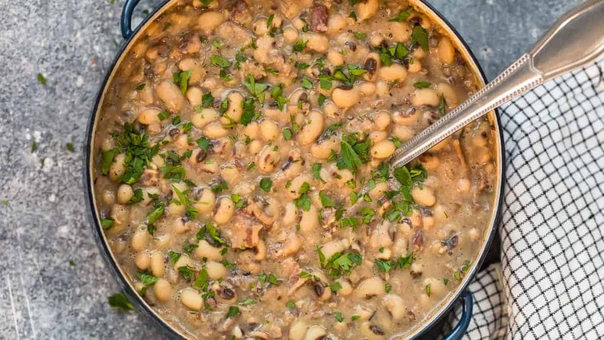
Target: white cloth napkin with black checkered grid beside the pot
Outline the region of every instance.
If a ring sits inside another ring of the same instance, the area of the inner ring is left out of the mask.
[[[604,339],[604,60],[503,106],[501,123],[501,264],[469,288],[464,339]]]

